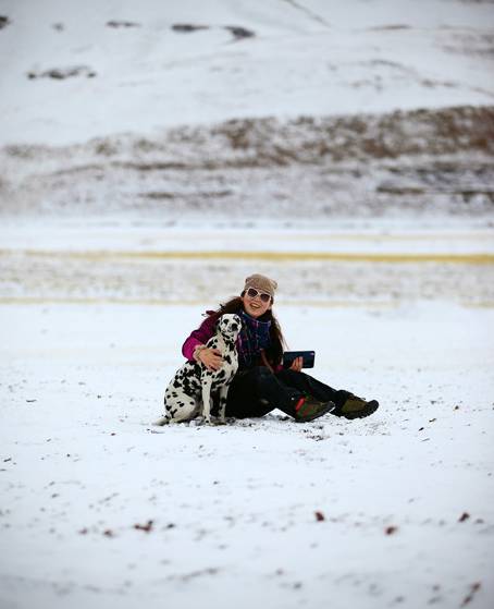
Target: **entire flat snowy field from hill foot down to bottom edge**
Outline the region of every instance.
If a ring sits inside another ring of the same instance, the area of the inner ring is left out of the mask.
[[[491,606],[492,233],[288,236],[3,231],[2,607]],[[152,426],[184,338],[259,268],[288,345],[380,410]]]

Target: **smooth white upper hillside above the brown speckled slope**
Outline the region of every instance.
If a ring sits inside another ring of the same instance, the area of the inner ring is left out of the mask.
[[[494,101],[490,1],[1,0],[0,15],[0,144]]]

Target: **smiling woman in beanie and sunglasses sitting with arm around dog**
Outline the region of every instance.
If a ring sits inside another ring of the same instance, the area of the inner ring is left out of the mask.
[[[379,407],[375,400],[367,402],[306,375],[300,372],[301,357],[288,369],[282,367],[284,339],[272,310],[276,288],[275,281],[262,275],[247,277],[240,296],[215,312],[208,310],[208,317],[182,346],[187,360],[201,362],[210,370],[219,369],[221,353],[206,348],[206,343],[214,334],[221,315],[240,316],[242,331],[236,344],[238,372],[230,386],[226,416],[263,416],[280,409],[295,421],[306,423],[326,413],[346,418],[372,414]]]

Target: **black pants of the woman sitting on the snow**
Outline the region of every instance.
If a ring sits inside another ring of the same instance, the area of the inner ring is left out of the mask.
[[[349,392],[333,389],[305,373],[272,373],[264,366],[256,366],[235,375],[230,386],[226,416],[263,416],[274,409],[294,416],[295,405],[306,394],[339,406]]]

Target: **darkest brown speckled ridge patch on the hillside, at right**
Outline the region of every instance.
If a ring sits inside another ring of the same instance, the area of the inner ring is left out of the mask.
[[[404,155],[494,153],[494,107],[455,107],[388,114],[226,121],[210,131],[237,153],[238,163],[396,159]],[[297,145],[294,143],[297,142]]]

